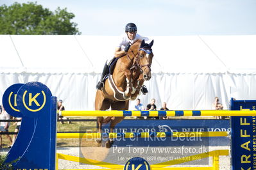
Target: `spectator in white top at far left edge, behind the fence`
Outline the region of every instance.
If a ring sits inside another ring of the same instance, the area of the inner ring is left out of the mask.
[[[0,105],[1,107],[1,105]],[[5,110],[4,107],[1,107],[1,112],[0,112],[0,120],[10,120],[10,114],[8,114]],[[10,122],[6,121],[1,121],[0,122],[0,132],[8,132],[8,128],[10,127]],[[7,139],[10,141],[10,146],[9,148],[12,147],[12,137],[10,135],[6,134]],[[2,148],[2,135],[0,134],[0,148]]]

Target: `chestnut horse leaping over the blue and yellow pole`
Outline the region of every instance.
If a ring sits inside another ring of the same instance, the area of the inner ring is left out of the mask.
[[[114,67],[114,71],[108,75],[102,90],[96,91],[95,110],[105,111],[128,110],[129,100],[135,100],[141,93],[144,81],[151,79],[151,63],[153,59],[153,40],[148,44],[144,40],[137,40],[132,44],[128,52],[121,56]],[[103,123],[110,122],[110,132],[115,125],[124,119],[122,117],[97,117],[98,132],[101,133]],[[102,139],[96,139],[101,143]],[[110,148],[114,141],[108,139],[105,146]]]

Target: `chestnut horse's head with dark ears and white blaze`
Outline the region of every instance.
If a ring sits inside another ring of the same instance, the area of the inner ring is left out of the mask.
[[[151,63],[153,59],[152,45],[154,40],[152,40],[149,44],[145,43],[144,40],[141,42],[141,47],[139,48],[139,53],[137,56],[138,65],[142,70],[143,79],[145,81],[149,81],[151,78]]]

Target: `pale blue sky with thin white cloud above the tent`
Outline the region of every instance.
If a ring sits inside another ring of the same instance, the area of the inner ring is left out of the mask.
[[[0,5],[14,2],[0,0]],[[128,22],[147,36],[256,35],[255,0],[37,0],[37,4],[52,11],[67,8],[76,16],[73,22],[81,35],[121,35]]]

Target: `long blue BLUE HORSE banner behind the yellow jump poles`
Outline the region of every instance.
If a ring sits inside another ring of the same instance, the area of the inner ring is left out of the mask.
[[[109,124],[103,126],[103,132],[109,132]],[[230,132],[230,120],[123,120],[117,124],[114,132]],[[156,143],[157,140],[157,143]],[[196,139],[194,139],[196,140]],[[203,143],[207,146],[229,146],[228,137],[205,137]],[[192,140],[167,137],[158,139],[124,139],[116,140],[118,146],[193,146]]]

